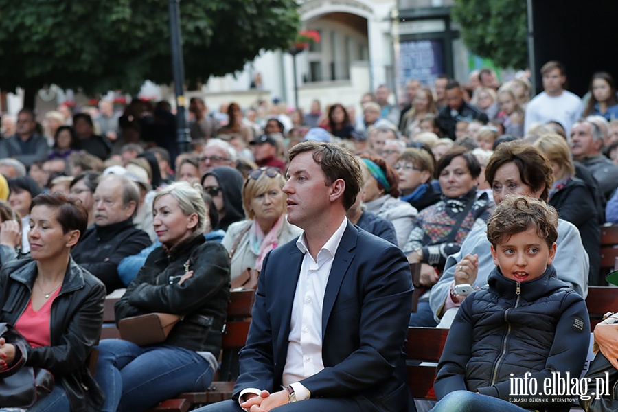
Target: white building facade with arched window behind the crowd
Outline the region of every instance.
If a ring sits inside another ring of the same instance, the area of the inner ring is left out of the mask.
[[[253,104],[256,97],[278,98],[294,106],[297,80],[299,106],[312,100],[322,106],[339,102],[358,104],[363,93],[380,84],[393,86],[393,38],[391,16],[394,0],[308,0],[299,5],[302,27],[317,30],[321,41],[296,56],[284,51],[264,52],[236,76],[211,78],[200,91],[211,109],[236,101]],[[262,75],[262,91],[249,90],[256,73]]]

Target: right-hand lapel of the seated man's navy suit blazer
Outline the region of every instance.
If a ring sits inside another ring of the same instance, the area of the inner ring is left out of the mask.
[[[347,222],[347,227],[343,232],[341,242],[335,253],[332,267],[330,268],[330,274],[328,275],[328,282],[326,283],[326,291],[324,293],[324,301],[322,304],[322,340],[326,332],[326,323],[330,317],[330,312],[334,306],[334,302],[339,295],[339,288],[341,288],[341,282],[347,272],[347,268],[350,267],[354,254],[350,253],[354,247],[356,247],[356,238],[358,237],[358,230],[352,223]]]

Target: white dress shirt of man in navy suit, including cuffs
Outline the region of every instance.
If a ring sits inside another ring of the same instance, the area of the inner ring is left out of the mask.
[[[317,260],[314,260],[308,253],[304,233],[296,242],[296,246],[304,254],[304,258],[292,304],[288,355],[282,380],[284,385],[290,385],[294,389],[297,400],[305,400],[311,395],[299,380],[313,376],[324,369],[322,362],[322,305],[330,269],[346,227],[347,218],[343,219],[339,228],[320,249]],[[245,393],[259,394],[260,391],[253,388],[244,389],[240,392],[239,400]]]

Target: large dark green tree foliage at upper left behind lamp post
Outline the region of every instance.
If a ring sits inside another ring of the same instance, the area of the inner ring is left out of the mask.
[[[135,93],[172,82],[167,0],[0,0],[0,89]],[[182,0],[185,78],[242,69],[299,29],[295,0]]]

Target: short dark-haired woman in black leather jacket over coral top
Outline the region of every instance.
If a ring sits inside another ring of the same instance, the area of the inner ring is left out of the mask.
[[[52,372],[54,390],[28,411],[98,411],[102,393],[86,360],[99,339],[105,286],[71,259],[87,225],[87,213],[63,194],[40,194],[30,207],[30,259],[0,271],[0,321],[30,343],[28,353],[0,338],[0,368],[21,356],[25,365]],[[1,405],[0,405],[1,406]]]

